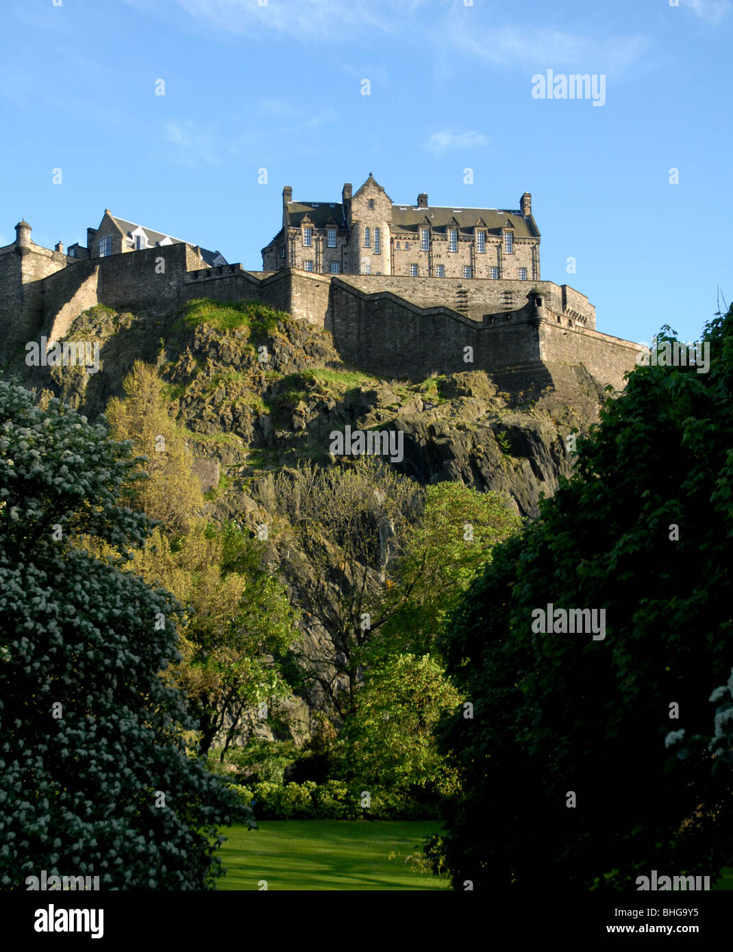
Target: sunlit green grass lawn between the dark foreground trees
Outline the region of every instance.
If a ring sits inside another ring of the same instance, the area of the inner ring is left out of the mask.
[[[433,821],[270,820],[231,826],[218,851],[228,869],[218,889],[449,889],[447,879],[413,872],[406,857],[437,833]],[[393,860],[389,854],[397,854]]]

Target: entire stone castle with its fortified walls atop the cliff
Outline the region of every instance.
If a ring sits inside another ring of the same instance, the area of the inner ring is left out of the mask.
[[[141,318],[188,301],[261,301],[325,327],[342,359],[386,377],[483,369],[510,392],[563,389],[584,365],[624,385],[644,347],[596,330],[574,288],[540,277],[540,232],[528,192],[520,209],[395,206],[371,174],[342,202],[293,202],[263,248],[263,270],[105,210],[87,247],[51,250],[25,220],[0,248],[0,359],[40,337],[63,341],[97,304]],[[104,352],[102,353],[104,364]]]

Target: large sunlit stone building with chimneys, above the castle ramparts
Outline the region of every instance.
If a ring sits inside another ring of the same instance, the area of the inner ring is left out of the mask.
[[[520,208],[395,205],[371,172],[341,202],[294,202],[283,189],[283,227],[262,250],[263,269],[315,274],[539,281],[540,231],[532,196]]]

